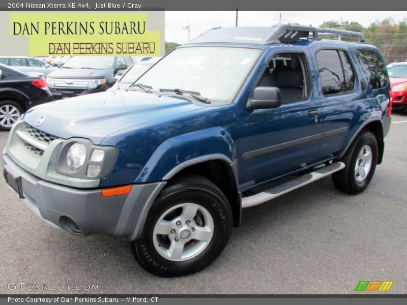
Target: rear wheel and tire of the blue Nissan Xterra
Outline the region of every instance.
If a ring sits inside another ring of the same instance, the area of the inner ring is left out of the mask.
[[[335,187],[352,195],[363,192],[376,169],[377,150],[377,140],[371,132],[359,134],[341,160],[345,168],[332,174]]]

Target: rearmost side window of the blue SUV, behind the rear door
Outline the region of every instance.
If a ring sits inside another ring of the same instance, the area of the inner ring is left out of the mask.
[[[363,72],[372,89],[386,87],[387,75],[379,54],[372,50],[356,50]]]

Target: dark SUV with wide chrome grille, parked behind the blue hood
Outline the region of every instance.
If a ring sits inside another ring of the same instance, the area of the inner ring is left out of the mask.
[[[116,81],[114,75],[134,64],[129,56],[72,57],[47,77],[55,99],[105,91]]]

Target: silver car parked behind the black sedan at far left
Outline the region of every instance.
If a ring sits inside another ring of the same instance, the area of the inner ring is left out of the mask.
[[[0,63],[24,73],[43,74],[45,77],[57,69],[40,59],[27,56],[1,56]]]

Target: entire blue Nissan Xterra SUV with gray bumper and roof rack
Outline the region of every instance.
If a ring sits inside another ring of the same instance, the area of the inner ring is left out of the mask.
[[[187,275],[221,254],[244,208],[331,174],[364,191],[383,160],[389,90],[360,33],[217,28],[126,88],[28,110],[3,171],[50,225],[125,237],[147,271]]]

